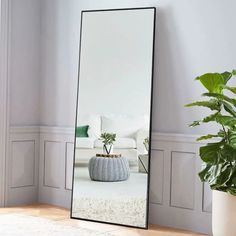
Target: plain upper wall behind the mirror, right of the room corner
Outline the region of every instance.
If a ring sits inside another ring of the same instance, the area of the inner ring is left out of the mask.
[[[158,132],[205,133],[189,129],[206,111],[184,108],[203,89],[193,79],[235,66],[234,0],[42,0],[42,125],[73,126],[75,115],[80,11],[157,7],[153,128]]]

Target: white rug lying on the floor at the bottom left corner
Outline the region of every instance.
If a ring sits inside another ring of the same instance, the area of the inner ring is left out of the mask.
[[[59,224],[36,216],[0,214],[1,236],[112,236],[81,227]]]

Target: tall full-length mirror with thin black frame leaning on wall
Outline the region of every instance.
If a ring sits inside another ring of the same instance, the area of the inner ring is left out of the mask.
[[[71,217],[146,228],[155,8],[82,12]]]

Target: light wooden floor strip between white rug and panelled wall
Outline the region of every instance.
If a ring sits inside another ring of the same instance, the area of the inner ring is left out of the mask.
[[[115,236],[200,236],[202,234],[191,233],[187,231],[169,229],[151,225],[149,230],[133,229],[128,227],[113,226],[108,224],[93,223],[81,220],[70,219],[68,210],[51,205],[30,205],[12,208],[0,208],[0,214],[21,213],[51,219],[60,224],[81,226],[83,228],[97,230],[97,232],[111,232]]]

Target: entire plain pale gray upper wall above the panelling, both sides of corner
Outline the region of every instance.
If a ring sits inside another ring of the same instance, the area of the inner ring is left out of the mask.
[[[206,127],[187,124],[205,110],[183,108],[203,91],[193,78],[235,66],[233,0],[12,0],[11,5],[11,125],[74,125],[82,9],[157,7],[154,131],[204,133]]]

